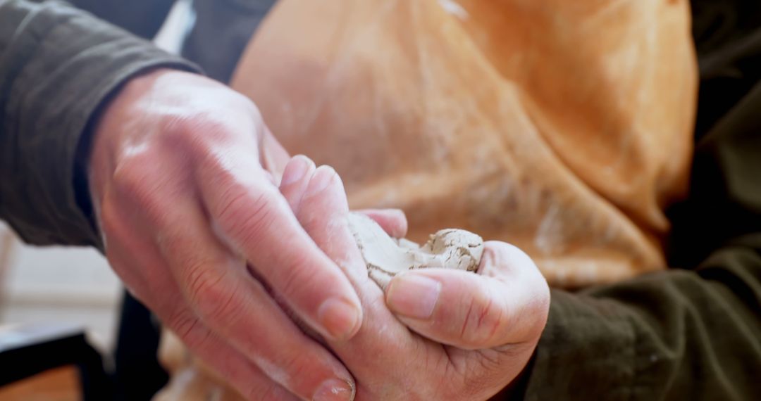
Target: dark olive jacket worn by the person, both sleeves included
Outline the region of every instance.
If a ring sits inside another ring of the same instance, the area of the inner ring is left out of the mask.
[[[183,54],[226,81],[272,2],[196,0]],[[75,3],[144,37],[172,4]],[[761,2],[693,0],[693,22],[696,153],[689,197],[668,213],[672,268],[553,290],[536,355],[502,398],[761,399]],[[99,246],[88,126],[129,77],[198,71],[126,30],[59,2],[0,0],[0,218],[27,242]]]

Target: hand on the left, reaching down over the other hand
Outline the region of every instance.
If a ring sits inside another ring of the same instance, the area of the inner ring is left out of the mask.
[[[244,96],[151,71],[97,124],[97,221],[129,291],[248,399],[350,399],[349,371],[290,318],[340,342],[359,330],[362,309],[280,194],[287,161]]]

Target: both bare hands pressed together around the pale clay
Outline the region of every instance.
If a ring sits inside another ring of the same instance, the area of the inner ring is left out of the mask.
[[[291,159],[253,103],[204,77],[129,81],[90,170],[113,269],[247,399],[487,399],[546,323],[546,282],[501,242],[477,275],[404,273],[384,294],[336,172]],[[398,211],[365,213],[406,231]]]

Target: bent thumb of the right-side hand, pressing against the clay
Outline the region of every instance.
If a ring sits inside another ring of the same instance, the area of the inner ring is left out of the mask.
[[[410,329],[461,349],[533,340],[545,324],[549,291],[533,261],[514,246],[487,242],[479,273],[401,273],[391,280],[386,303]]]

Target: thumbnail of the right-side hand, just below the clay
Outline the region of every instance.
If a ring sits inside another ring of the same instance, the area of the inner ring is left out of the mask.
[[[441,283],[419,274],[402,273],[391,280],[386,294],[388,307],[396,314],[428,319],[441,293]]]

